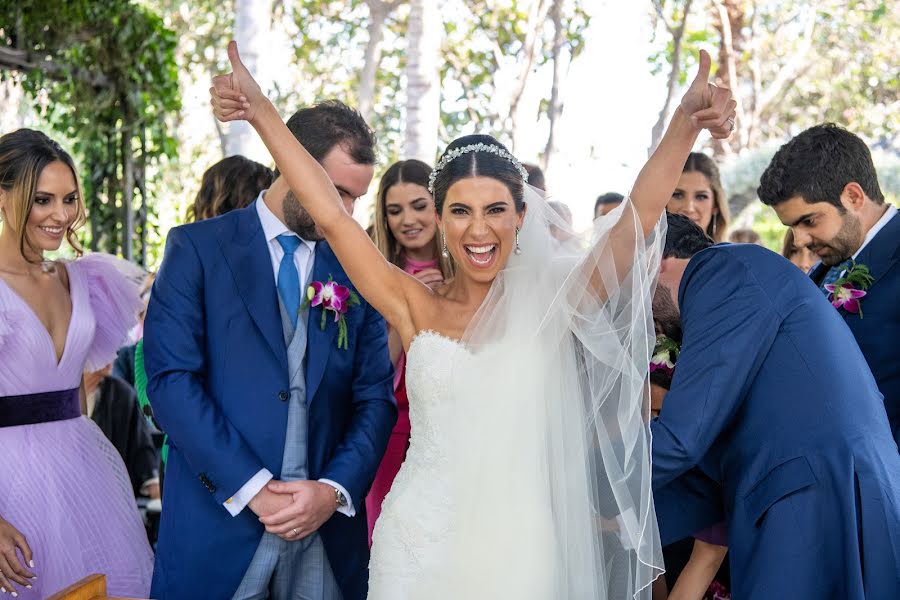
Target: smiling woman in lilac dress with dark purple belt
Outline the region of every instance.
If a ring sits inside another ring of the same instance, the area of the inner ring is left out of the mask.
[[[0,137],[0,587],[44,598],[92,573],[146,597],[152,553],[122,459],[82,416],[81,377],[112,362],[141,308],[140,270],[79,249],[71,157],[28,129]]]

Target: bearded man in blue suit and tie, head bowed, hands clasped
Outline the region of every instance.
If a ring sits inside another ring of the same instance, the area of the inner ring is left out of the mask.
[[[358,113],[325,102],[288,127],[348,211],[373,175]],[[169,435],[155,598],[362,600],[365,496],[396,421],[387,328],[351,288],[283,177],[248,208],[169,232],[144,336],[148,396]],[[264,531],[265,530],[265,531]]]

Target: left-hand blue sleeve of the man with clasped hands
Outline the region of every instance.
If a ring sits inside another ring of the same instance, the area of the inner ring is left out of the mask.
[[[264,465],[203,386],[204,295],[197,250],[184,230],[173,229],[144,328],[147,396],[169,439],[222,504]]]

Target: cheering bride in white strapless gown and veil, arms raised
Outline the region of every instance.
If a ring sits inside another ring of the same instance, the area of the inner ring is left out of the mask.
[[[234,42],[228,56],[216,116],[253,125],[407,351],[412,438],[375,528],[369,597],[649,598],[662,572],[645,422],[660,216],[699,132],[734,127],[709,56],[630,200],[584,239],[498,141],[450,144],[430,191],[457,275],[437,291],[385,260]]]

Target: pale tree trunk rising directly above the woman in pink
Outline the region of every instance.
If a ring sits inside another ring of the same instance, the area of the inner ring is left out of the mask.
[[[411,0],[406,63],[406,131],[403,155],[434,162],[440,126],[441,13],[434,0]]]

